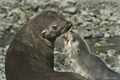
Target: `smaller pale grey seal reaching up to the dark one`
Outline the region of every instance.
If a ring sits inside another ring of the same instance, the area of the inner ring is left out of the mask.
[[[90,80],[120,80],[120,74],[108,68],[99,57],[94,55],[81,36],[70,31],[65,40],[74,72]]]

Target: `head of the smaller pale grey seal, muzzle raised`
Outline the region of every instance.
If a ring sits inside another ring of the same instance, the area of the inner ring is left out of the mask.
[[[74,55],[74,56],[79,56],[81,51],[84,53],[87,53],[90,51],[86,41],[79,35],[76,34],[73,31],[68,32],[64,36],[65,39],[65,47],[68,51],[68,53]]]

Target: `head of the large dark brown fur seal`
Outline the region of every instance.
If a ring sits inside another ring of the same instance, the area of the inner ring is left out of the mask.
[[[67,32],[72,23],[67,21],[62,14],[55,11],[43,11],[31,21],[29,21],[30,30],[37,37],[43,37],[53,41],[61,34]]]

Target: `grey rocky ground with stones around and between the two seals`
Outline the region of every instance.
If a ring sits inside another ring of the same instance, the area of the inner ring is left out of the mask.
[[[13,35],[28,20],[44,10],[65,15],[82,35],[92,52],[111,69],[120,72],[119,0],[0,0],[0,80],[5,80],[5,54]],[[56,42],[56,71],[71,72],[61,38]]]

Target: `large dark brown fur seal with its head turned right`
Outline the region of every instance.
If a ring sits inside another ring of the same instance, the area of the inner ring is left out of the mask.
[[[85,80],[75,73],[55,72],[55,39],[71,28],[61,14],[44,11],[14,36],[6,54],[7,80]]]

